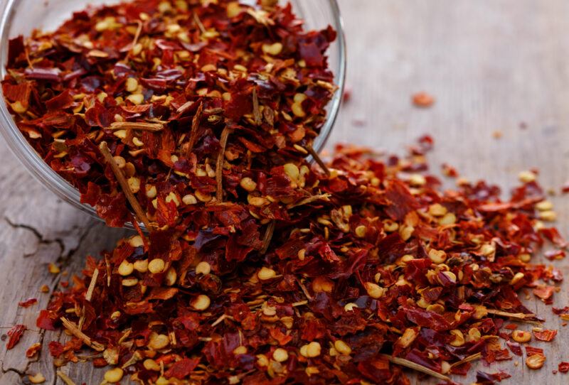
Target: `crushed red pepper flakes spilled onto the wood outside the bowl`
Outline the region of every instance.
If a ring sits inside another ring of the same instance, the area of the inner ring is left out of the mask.
[[[551,204],[535,178],[507,201],[484,182],[442,190],[426,173],[430,146],[422,138],[406,158],[340,146],[328,173],[272,169],[269,180],[287,181],[287,218],[245,262],[233,256],[260,234],[123,239],[42,311],[39,327],[73,335],[51,354],[65,364],[90,347],[95,366],[115,368],[109,378],[144,384],[409,384],[403,369],[451,381],[522,349],[542,367],[545,352],[528,344],[556,332],[517,293],[551,303],[562,280],[531,263],[545,242],[566,246],[539,219]]]

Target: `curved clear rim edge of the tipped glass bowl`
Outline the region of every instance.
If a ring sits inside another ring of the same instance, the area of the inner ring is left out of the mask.
[[[308,0],[310,1],[310,0]],[[0,18],[0,42],[8,41],[8,29],[11,26],[11,18],[14,16],[14,6],[18,4],[18,0],[7,0],[4,11]],[[328,116],[326,122],[322,126],[319,136],[314,140],[314,150],[319,152],[324,148],[326,141],[329,139],[331,130],[339,114],[339,109],[344,94],[344,85],[346,81],[346,38],[344,36],[344,21],[341,18],[340,8],[337,0],[328,0],[330,10],[334,16],[334,30],[337,32],[337,44],[339,50],[339,67],[334,74],[334,82],[336,82],[336,92],[332,97],[328,106]],[[8,47],[3,44],[0,47],[0,79],[6,76],[6,65],[8,55]],[[65,178],[50,168],[48,163],[43,161],[43,158],[33,149],[33,147],[24,138],[21,131],[16,126],[16,122],[12,118],[6,101],[4,99],[4,92],[0,87],[0,134],[8,144],[11,152],[18,161],[33,175],[36,180],[39,180],[52,193],[55,193],[60,199],[77,207],[79,210],[102,220],[95,211],[95,207],[81,203],[81,195],[78,189],[73,187]],[[314,161],[312,156],[307,158],[309,161]],[[132,224],[127,224],[126,227],[132,228]]]

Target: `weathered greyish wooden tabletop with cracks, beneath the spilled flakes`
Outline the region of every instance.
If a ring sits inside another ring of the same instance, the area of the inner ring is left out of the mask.
[[[309,0],[307,0],[309,1]],[[504,188],[516,183],[521,170],[538,167],[546,188],[558,190],[569,179],[569,1],[566,0],[341,0],[349,46],[348,86],[352,96],[341,111],[329,147],[337,141],[402,153],[422,134],[432,134],[430,154],[456,166],[461,175],[485,178]],[[410,94],[425,90],[437,102],[430,109],[410,104]],[[521,129],[521,123],[526,129]],[[501,131],[501,139],[493,137]],[[0,334],[16,323],[28,330],[6,353],[0,342],[0,384],[19,384],[21,375],[42,372],[55,379],[47,352],[58,333],[38,332],[38,310],[49,294],[38,293],[69,276],[48,273],[49,262],[69,274],[80,271],[87,254],[110,248],[124,232],[105,227],[60,202],[33,180],[0,143]],[[558,227],[569,234],[568,197],[552,198]],[[569,263],[555,266],[569,276]],[[568,305],[565,283],[555,305]],[[38,305],[18,308],[36,297]],[[561,359],[569,361],[569,330],[531,298],[529,308],[560,328],[546,349],[546,366],[528,370],[514,358],[485,372],[506,368],[506,384],[567,384],[569,375],[552,374]],[[28,362],[24,351],[42,342],[41,358]],[[519,365],[514,366],[514,362]],[[90,364],[63,371],[77,384],[99,384],[101,372]],[[455,376],[470,384],[474,376]],[[124,382],[124,381],[123,381]],[[419,381],[414,380],[415,383]],[[433,381],[432,384],[435,384]],[[426,382],[421,382],[425,384]]]

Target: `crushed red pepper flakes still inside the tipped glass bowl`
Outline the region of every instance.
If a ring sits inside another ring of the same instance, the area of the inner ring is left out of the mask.
[[[4,97],[33,148],[110,226],[131,211],[173,227],[196,203],[259,205],[251,180],[312,151],[336,91],[325,55],[336,32],[304,31],[276,3],[137,0],[74,13],[54,33],[10,40]]]

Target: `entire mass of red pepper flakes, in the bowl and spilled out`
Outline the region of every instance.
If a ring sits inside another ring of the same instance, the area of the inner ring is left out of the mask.
[[[322,162],[335,32],[275,3],[139,0],[11,40],[18,127],[108,224],[148,230],[41,310],[38,327],[71,336],[48,342],[55,365],[156,385],[452,383],[523,351],[541,368],[528,344],[557,332],[518,293],[552,303],[562,274],[531,259],[567,244],[535,174],[507,201],[484,182],[442,190],[428,136],[405,158],[339,146]]]

